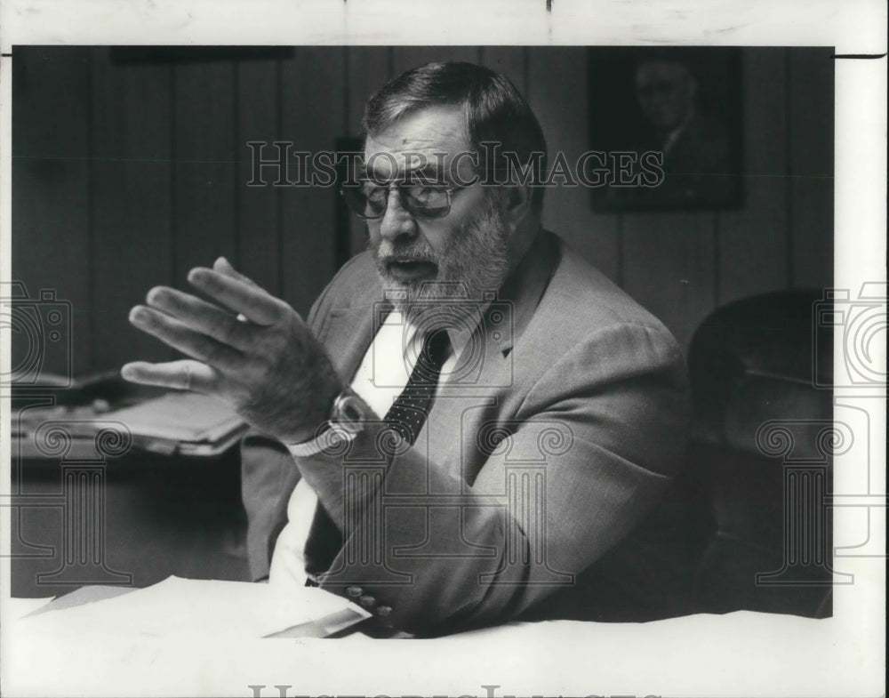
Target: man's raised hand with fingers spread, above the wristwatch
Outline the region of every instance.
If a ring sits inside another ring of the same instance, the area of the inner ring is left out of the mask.
[[[219,397],[284,443],[312,437],[345,386],[299,314],[221,257],[188,282],[220,305],[156,286],[130,322],[191,358],[132,362],[124,379]]]

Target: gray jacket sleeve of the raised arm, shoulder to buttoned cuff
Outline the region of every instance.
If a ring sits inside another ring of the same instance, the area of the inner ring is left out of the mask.
[[[573,584],[652,508],[681,461],[686,412],[685,362],[672,336],[613,325],[541,375],[516,419],[493,430],[471,485],[379,423],[347,453],[296,459],[342,522],[345,544],[321,585],[419,634],[515,618]],[[462,494],[393,506],[392,480],[400,492]],[[451,513],[428,516],[436,506]],[[424,531],[424,553],[404,555]],[[455,538],[478,554],[454,554]]]

